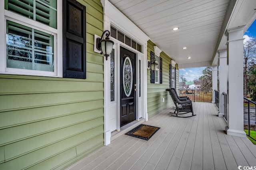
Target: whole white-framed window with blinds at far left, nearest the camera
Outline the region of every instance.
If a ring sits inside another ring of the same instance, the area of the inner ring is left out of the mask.
[[[0,73],[62,77],[62,2],[4,0],[0,6]]]

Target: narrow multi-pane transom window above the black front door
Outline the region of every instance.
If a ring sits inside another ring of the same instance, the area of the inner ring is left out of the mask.
[[[112,38],[115,38],[116,40],[125,43],[129,47],[132,47],[136,49],[137,51],[142,53],[142,45],[140,45],[135,40],[132,40],[129,36],[122,33],[120,30],[114,28],[113,26],[110,27],[110,35]]]

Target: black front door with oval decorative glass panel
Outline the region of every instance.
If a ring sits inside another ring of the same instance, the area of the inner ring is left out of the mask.
[[[136,54],[120,47],[120,127],[136,120]]]

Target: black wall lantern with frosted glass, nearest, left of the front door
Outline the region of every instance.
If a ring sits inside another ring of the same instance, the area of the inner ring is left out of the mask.
[[[105,33],[106,33],[106,39],[104,40],[102,38]],[[97,38],[96,40],[96,43],[97,43],[96,48],[101,51],[100,54],[103,53],[103,55],[106,57],[106,60],[108,60],[108,56],[112,52],[113,45],[114,45],[114,42],[108,38],[109,36],[110,36],[110,32],[106,30],[101,35],[101,38]]]

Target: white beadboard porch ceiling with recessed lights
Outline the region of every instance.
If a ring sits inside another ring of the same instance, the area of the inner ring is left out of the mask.
[[[212,64],[230,4],[230,0],[109,1],[179,65]],[[255,5],[252,3],[252,8]],[[179,29],[174,31],[174,27]]]

